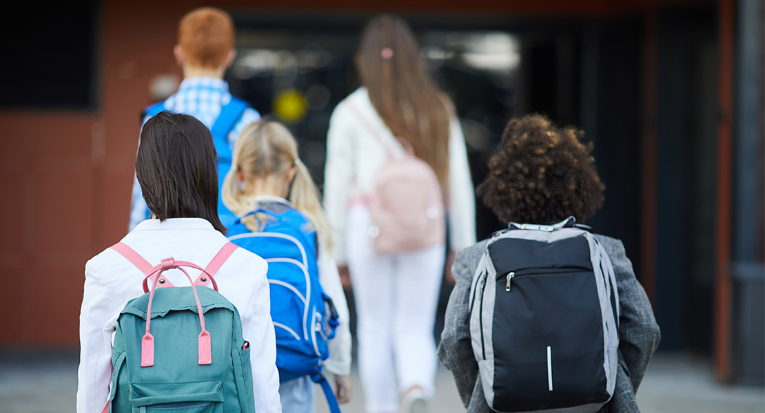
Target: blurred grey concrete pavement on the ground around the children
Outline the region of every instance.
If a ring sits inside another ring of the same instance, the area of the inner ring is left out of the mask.
[[[78,362],[76,352],[0,351],[0,413],[73,413]],[[363,390],[353,372],[353,400],[343,413],[363,413]],[[709,360],[684,353],[654,356],[637,401],[643,413],[765,413],[763,387],[721,385]],[[431,413],[464,411],[451,373],[439,367]],[[317,413],[326,412],[317,389]]]

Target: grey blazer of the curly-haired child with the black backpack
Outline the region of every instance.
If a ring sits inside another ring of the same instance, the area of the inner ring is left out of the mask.
[[[635,278],[632,263],[624,253],[622,242],[603,235],[595,237],[614,265],[621,305],[616,389],[614,397],[601,408],[601,412],[639,412],[635,393],[646,373],[648,360],[659,345],[659,325],[653,317],[653,308],[643,286]],[[449,297],[444,331],[441,333],[441,344],[438,345],[438,359],[454,375],[457,391],[467,413],[490,412],[486,398],[483,397],[478,363],[470,345],[468,300],[470,283],[486,244],[487,240],[483,240],[467,247],[459,251],[454,259],[451,273],[456,284]]]

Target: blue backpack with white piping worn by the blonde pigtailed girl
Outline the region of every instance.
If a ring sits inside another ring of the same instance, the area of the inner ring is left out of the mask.
[[[319,283],[316,231],[294,208],[279,214],[258,209],[248,215],[253,214],[268,217],[263,230],[250,232],[236,220],[229,229],[229,240],[269,263],[279,381],[311,376],[324,389],[330,411],[340,413],[337,399],[321,374],[330,355],[327,341],[334,337],[339,322],[332,300]]]

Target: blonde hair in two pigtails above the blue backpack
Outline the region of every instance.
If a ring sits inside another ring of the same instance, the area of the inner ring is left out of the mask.
[[[245,179],[275,175],[282,176],[295,166],[297,172],[288,195],[289,202],[311,222],[318,238],[327,248],[332,245],[330,224],[321,208],[319,192],[311,173],[298,157],[298,144],[286,127],[277,122],[256,121],[248,124],[236,139],[231,170],[223,181],[223,204],[236,215],[258,208],[257,202],[243,192],[236,171]],[[262,231],[268,218],[247,215],[243,224],[252,232]]]

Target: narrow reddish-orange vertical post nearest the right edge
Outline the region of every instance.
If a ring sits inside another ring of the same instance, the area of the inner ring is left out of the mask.
[[[735,2],[721,0],[718,11],[719,79],[718,181],[715,247],[715,374],[721,381],[731,379],[731,197],[733,190],[733,69]]]

